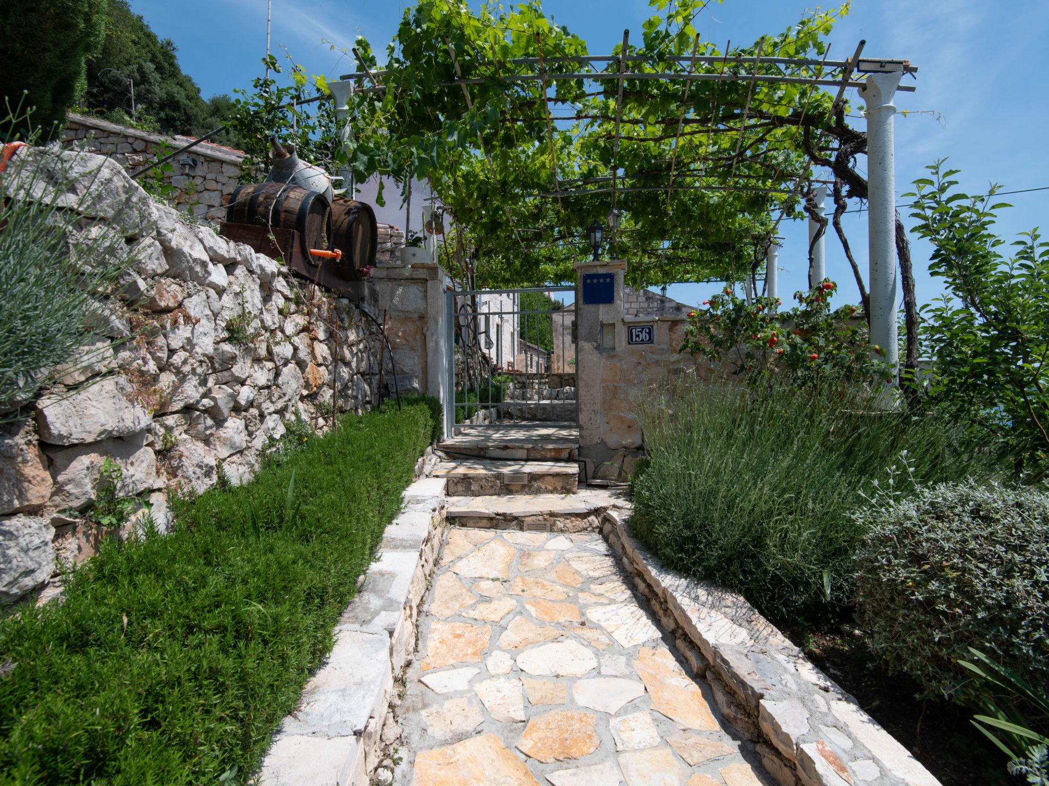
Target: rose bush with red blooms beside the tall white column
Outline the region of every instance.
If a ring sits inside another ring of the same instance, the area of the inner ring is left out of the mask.
[[[837,285],[825,280],[808,292],[798,291],[798,306],[777,312],[775,298],[747,303],[727,288],[703,301],[707,310],[689,311],[682,352],[730,364],[732,373],[754,387],[778,379],[794,388],[844,383],[874,383],[886,377],[871,346],[868,327],[855,319],[857,306],[831,309]]]

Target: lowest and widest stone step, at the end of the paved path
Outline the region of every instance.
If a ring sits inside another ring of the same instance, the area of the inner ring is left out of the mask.
[[[605,510],[629,507],[626,489],[584,486],[576,494],[449,497],[447,515],[462,527],[579,532],[596,530]]]

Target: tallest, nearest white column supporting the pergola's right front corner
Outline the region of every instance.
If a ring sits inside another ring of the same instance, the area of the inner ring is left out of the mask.
[[[896,303],[896,161],[893,97],[901,71],[872,73],[859,93],[866,102],[868,236],[871,263],[871,343],[899,366]],[[894,372],[895,373],[895,372]]]

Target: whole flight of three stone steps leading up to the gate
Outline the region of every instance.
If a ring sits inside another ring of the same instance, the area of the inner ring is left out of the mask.
[[[466,427],[438,453],[433,477],[447,482],[448,518],[459,526],[596,530],[604,510],[628,505],[625,490],[585,485],[574,423]]]

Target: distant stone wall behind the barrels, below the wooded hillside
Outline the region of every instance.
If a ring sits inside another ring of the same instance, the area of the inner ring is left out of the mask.
[[[154,134],[72,112],[67,115],[63,138],[66,148],[108,156],[128,172],[137,172],[155,160],[157,149],[173,153],[191,141],[192,136]],[[173,171],[165,180],[178,190],[178,210],[209,219],[221,218],[223,197],[237,188],[243,160],[242,150],[207,141],[172,159]]]

